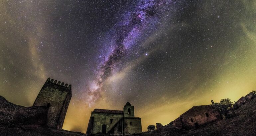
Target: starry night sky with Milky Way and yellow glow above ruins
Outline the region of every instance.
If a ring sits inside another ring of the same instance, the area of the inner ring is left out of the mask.
[[[72,84],[63,129],[135,106],[142,129],[256,88],[255,0],[0,0],[0,95]]]

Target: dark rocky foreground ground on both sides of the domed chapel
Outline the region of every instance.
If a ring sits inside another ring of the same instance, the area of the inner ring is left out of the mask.
[[[183,130],[172,125],[166,125],[158,130],[136,134],[136,136],[253,136],[256,135],[256,98],[245,103],[235,110],[237,116],[226,120],[218,120],[200,126],[197,129]],[[24,125],[0,126],[2,136],[80,136],[85,135],[79,132],[65,130],[54,130],[44,127]],[[107,136],[107,135],[105,135]],[[135,135],[133,135],[135,136]]]

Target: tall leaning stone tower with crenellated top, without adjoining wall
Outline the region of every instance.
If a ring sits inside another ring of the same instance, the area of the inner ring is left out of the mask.
[[[71,85],[67,87],[63,82],[48,78],[33,106],[48,105],[46,125],[61,130],[71,96]]]

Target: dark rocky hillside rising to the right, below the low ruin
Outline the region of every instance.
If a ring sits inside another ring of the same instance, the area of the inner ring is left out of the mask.
[[[183,130],[166,125],[158,130],[139,136],[254,136],[256,135],[256,99],[250,100],[235,110],[237,116],[204,124],[199,128]]]

